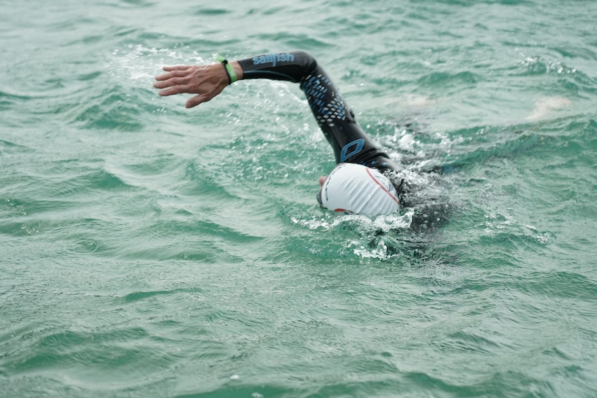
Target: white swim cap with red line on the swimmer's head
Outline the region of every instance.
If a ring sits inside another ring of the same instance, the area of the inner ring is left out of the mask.
[[[368,216],[389,215],[398,210],[398,194],[387,177],[355,163],[340,163],[317,195],[328,210]]]

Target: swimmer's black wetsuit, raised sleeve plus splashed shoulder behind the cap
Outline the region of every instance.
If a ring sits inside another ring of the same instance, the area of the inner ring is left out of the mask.
[[[303,51],[291,51],[259,55],[239,63],[243,79],[300,83],[319,127],[334,149],[337,163],[358,163],[384,173],[398,191],[400,204],[415,210],[411,228],[425,230],[447,221],[450,207],[443,197],[438,196],[436,190],[427,190],[427,185],[411,186],[404,181],[404,168],[371,141],[314,57]],[[426,174],[428,178],[423,181],[431,181],[432,174]]]

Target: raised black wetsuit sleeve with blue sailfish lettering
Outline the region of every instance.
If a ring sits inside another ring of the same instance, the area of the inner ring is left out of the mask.
[[[303,51],[272,53],[240,60],[243,79],[285,80],[301,84],[337,163],[359,163],[384,172],[398,167],[375,145],[355,120],[326,72]]]

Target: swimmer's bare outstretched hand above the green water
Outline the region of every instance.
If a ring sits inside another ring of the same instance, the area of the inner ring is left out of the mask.
[[[187,108],[195,107],[211,100],[229,84],[228,75],[222,64],[212,65],[178,65],[164,66],[163,75],[156,76],[153,86],[163,89],[160,96],[189,93],[198,94],[185,104]]]

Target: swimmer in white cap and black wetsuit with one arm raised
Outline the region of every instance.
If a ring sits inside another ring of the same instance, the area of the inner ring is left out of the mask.
[[[220,55],[211,65],[165,66],[154,87],[160,96],[197,94],[187,108],[212,100],[238,80],[269,79],[299,83],[313,116],[332,146],[336,167],[319,178],[319,206],[370,217],[390,215],[400,208],[400,172],[355,120],[330,78],[310,54],[303,51],[270,53],[228,62]]]

